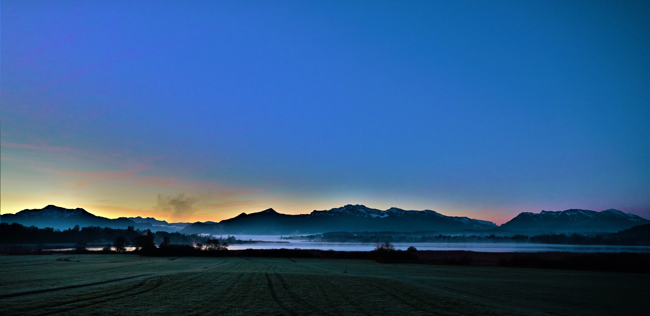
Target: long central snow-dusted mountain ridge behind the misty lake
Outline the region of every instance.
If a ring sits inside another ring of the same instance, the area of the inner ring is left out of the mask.
[[[385,211],[365,205],[348,204],[309,214],[281,214],[274,209],[257,213],[241,213],[237,217],[207,224],[196,222],[182,233],[213,233],[239,235],[295,235],[323,231],[416,231],[416,230],[489,230],[493,222],[467,217],[448,217],[435,211],[406,211],[391,207]]]

